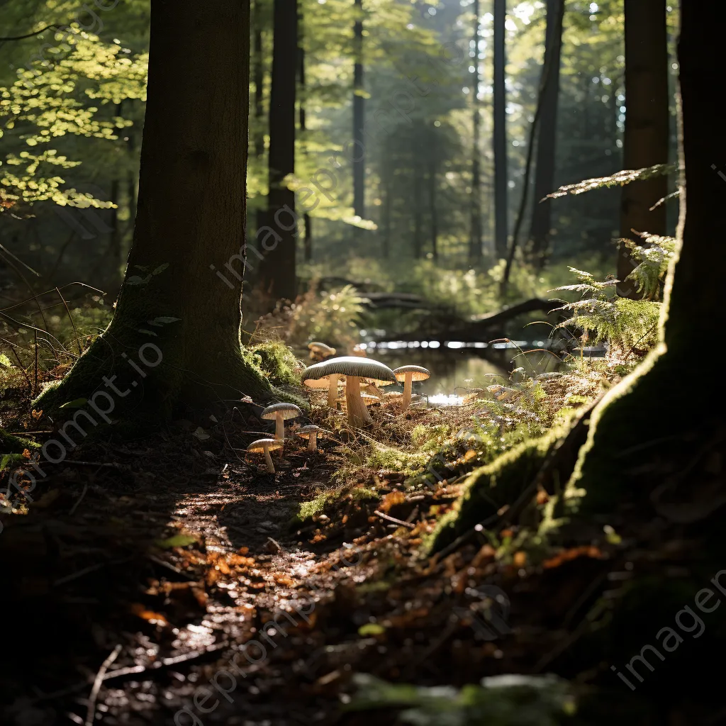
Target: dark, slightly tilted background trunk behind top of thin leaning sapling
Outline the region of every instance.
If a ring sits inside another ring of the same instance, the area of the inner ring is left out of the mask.
[[[542,115],[537,134],[537,160],[534,177],[534,210],[529,231],[529,251],[537,269],[542,269],[550,243],[552,202],[540,202],[554,191],[557,106],[560,95],[560,51],[564,0],[547,0],[547,34],[544,41],[544,68],[547,83],[542,89]]]

